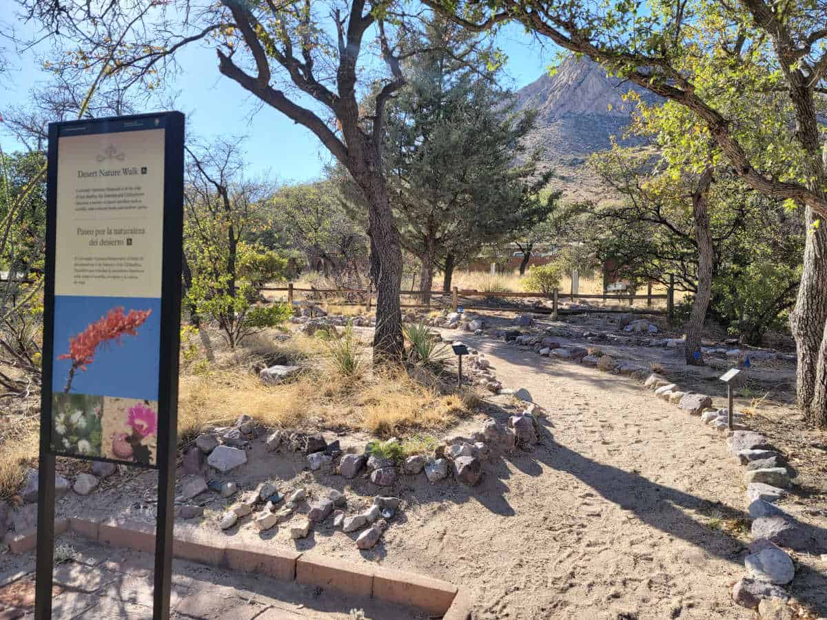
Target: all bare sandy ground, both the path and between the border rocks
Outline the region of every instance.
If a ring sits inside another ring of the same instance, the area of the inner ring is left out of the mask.
[[[371,551],[358,551],[355,535],[335,531],[332,519],[303,541],[290,540],[280,529],[262,535],[249,517],[220,532],[215,516],[227,504],[214,498],[202,500],[202,522],[176,527],[199,527],[216,537],[261,537],[447,579],[471,590],[480,620],[754,617],[730,599],[732,585],[744,575],[748,515],[743,469],[727,456],[721,436],[627,377],[467,332],[444,336],[461,336],[484,351],[505,386],[528,389],[547,409],[535,451],[490,461],[472,489],[450,479],[431,485],[418,475],[383,490],[366,479],[311,473],[298,455],[268,454],[255,441],[251,462],[225,479],[238,480],[242,488],[275,479],[285,494],[304,485],[316,497],[340,489],[347,494],[348,513],[380,492],[404,498],[404,508]],[[489,413],[495,417],[514,411],[509,397],[492,401]],[[716,403],[723,405],[719,398]],[[783,413],[780,404],[774,407],[773,415]],[[450,434],[470,432],[483,419],[466,420]],[[345,447],[366,441],[339,438]],[[816,444],[806,436],[797,441],[803,443],[794,457]],[[793,460],[808,482],[784,508],[824,533],[827,513],[811,507],[824,497],[819,468],[825,462],[818,457],[825,453],[812,450],[812,459]],[[107,506],[112,513],[149,520],[152,481],[151,475],[107,481],[93,496],[94,506],[92,498],[70,494],[59,512],[99,513]],[[796,560],[792,594],[827,615],[827,557],[814,553]]]

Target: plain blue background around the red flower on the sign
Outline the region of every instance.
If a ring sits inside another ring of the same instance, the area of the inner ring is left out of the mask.
[[[121,398],[158,399],[160,367],[160,298],[77,297],[55,295],[55,362],[52,389],[63,392],[72,360],[58,360],[69,353],[69,340],[90,324],[105,317],[112,308],[151,310],[146,321],[117,341],[104,341],[95,351],[87,370],[76,370],[69,393],[99,394]]]

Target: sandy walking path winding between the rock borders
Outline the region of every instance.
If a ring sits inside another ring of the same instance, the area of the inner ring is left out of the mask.
[[[462,338],[547,409],[549,434],[467,502],[409,509],[391,562],[468,584],[480,618],[752,618],[729,599],[743,548],[704,516],[743,516],[719,436],[628,378]]]

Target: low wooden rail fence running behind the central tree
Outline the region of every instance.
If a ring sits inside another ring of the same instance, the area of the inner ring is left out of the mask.
[[[314,288],[300,288],[296,287],[293,284],[288,284],[287,286],[265,286],[261,287],[259,290],[261,291],[272,291],[272,292],[280,292],[280,293],[287,293],[287,301],[288,303],[294,302],[294,293],[319,293],[319,294],[335,294],[335,293],[358,293],[364,296],[364,302],[342,302],[337,303],[337,305],[341,306],[366,306],[367,311],[370,312],[370,308],[373,305],[373,290],[369,286],[367,289],[314,289]],[[675,311],[675,289],[670,287],[666,294],[653,294],[651,287],[648,288],[647,294],[645,295],[634,295],[634,294],[622,294],[622,293],[603,293],[603,294],[579,294],[579,293],[568,293],[562,294],[557,289],[552,291],[552,293],[523,293],[523,292],[509,292],[509,291],[477,291],[476,289],[459,289],[456,286],[453,287],[450,293],[446,291],[399,291],[399,295],[414,295],[416,297],[421,297],[426,300],[426,303],[402,303],[400,304],[401,308],[431,308],[431,298],[437,297],[442,298],[445,295],[451,295],[451,305],[454,311],[456,312],[460,306],[459,298],[490,298],[490,297],[497,297],[497,298],[547,298],[552,300],[552,312],[557,313],[558,311],[558,301],[560,298],[571,299],[571,301],[575,301],[576,299],[601,299],[603,301],[616,301],[619,303],[627,302],[629,306],[632,306],[635,300],[646,300],[647,308],[652,308],[652,303],[654,300],[663,299],[667,302],[667,316],[669,320],[672,321],[672,317]],[[474,307],[469,307],[474,309]],[[601,312],[603,312],[601,310]],[[660,311],[656,310],[649,310],[648,312],[652,313],[660,313]]]

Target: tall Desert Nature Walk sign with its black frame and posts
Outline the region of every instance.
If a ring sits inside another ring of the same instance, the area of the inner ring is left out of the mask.
[[[50,124],[36,620],[55,455],[158,470],[153,618],[170,616],[183,193],[180,112]]]

